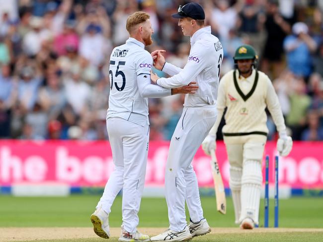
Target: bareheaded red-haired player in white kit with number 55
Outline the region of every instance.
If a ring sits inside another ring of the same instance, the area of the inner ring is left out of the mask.
[[[151,54],[145,46],[152,44],[154,33],[149,15],[135,12],[127,19],[130,38],[113,49],[110,57],[110,97],[106,125],[115,170],[91,215],[95,234],[110,237],[108,215],[111,205],[123,188],[122,230],[119,241],[149,241],[137,231],[138,211],[145,182],[149,143],[148,97],[159,98],[176,93],[191,93],[197,86],[170,89],[151,84]],[[189,83],[194,84],[194,82]]]

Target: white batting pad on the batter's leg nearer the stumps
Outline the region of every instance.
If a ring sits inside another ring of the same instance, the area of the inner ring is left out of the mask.
[[[246,217],[258,224],[260,190],[262,183],[261,160],[246,160],[243,162],[241,186],[240,222]]]

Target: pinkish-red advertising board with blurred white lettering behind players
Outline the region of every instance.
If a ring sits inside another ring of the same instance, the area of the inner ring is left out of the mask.
[[[146,185],[162,186],[169,142],[151,142]],[[268,142],[269,183],[274,182],[276,144]],[[225,186],[229,162],[223,142],[217,157]],[[210,157],[199,149],[193,160],[200,186],[213,186]],[[16,182],[60,182],[72,186],[103,186],[114,169],[109,142],[0,141],[0,185]],[[263,169],[264,172],[264,169]],[[264,177],[264,176],[263,176]],[[323,188],[323,142],[294,142],[288,157],[279,158],[279,182],[293,188]]]

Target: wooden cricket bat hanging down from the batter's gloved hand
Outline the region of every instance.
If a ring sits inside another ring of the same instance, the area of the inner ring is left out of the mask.
[[[214,180],[215,196],[217,200],[217,210],[222,214],[226,214],[226,211],[227,211],[226,193],[224,191],[224,185],[223,185],[217,157],[215,155],[215,150],[211,151],[211,167],[212,167],[212,174],[213,174],[213,180]]]

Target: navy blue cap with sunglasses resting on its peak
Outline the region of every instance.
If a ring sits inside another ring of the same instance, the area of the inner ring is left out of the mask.
[[[185,18],[190,17],[193,19],[205,19],[205,13],[203,10],[203,7],[196,3],[196,2],[190,2],[185,4],[184,6],[179,6],[178,12],[171,14],[173,18]]]

